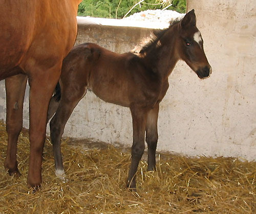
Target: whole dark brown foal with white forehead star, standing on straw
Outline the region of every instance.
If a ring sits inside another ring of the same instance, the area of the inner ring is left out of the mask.
[[[184,60],[203,79],[211,67],[203,49],[203,40],[196,27],[194,10],[142,48],[138,55],[116,54],[97,44],[77,45],[63,60],[60,85],[49,105],[56,175],[64,178],[60,139],[65,125],[78,102],[91,89],[105,102],[129,107],[133,119],[132,163],[127,187],[136,188],[136,172],[148,146],[148,171],[156,168],[159,103],[168,89],[168,76],[177,61]],[[60,86],[60,88],[59,88]],[[60,96],[61,89],[61,96]]]

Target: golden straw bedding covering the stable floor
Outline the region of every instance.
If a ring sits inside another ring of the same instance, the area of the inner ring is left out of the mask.
[[[42,187],[32,193],[26,187],[28,134],[19,136],[19,178],[4,170],[3,122],[0,141],[0,213],[256,213],[255,162],[160,154],[156,172],[146,172],[146,162],[140,162],[135,193],[125,188],[129,151],[111,146],[81,150],[63,140],[67,181],[61,182],[55,177],[52,147],[46,140]]]

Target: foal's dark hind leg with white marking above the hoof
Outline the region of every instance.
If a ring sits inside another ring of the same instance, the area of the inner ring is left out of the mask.
[[[71,113],[78,102],[86,94],[87,88],[80,87],[79,90],[72,90],[63,87],[61,91],[61,100],[55,115],[50,122],[51,141],[53,145],[53,155],[55,162],[55,174],[61,180],[65,180],[65,171],[63,170],[63,162],[61,156],[60,140],[65,125],[69,120]]]

